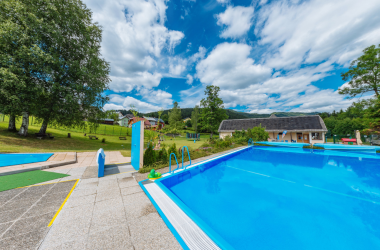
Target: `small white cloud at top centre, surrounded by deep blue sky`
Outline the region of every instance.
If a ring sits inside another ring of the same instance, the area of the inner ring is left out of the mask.
[[[226,25],[220,37],[238,38],[251,28],[253,23],[253,7],[229,6],[223,13],[217,15],[219,26]]]

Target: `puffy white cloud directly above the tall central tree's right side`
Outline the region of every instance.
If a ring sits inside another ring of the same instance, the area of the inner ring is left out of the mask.
[[[251,47],[246,44],[223,43],[216,46],[197,66],[202,83],[222,89],[241,89],[268,79],[271,69],[254,64],[249,58]]]

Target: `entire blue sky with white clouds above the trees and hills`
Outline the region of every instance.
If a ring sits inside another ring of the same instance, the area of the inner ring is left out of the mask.
[[[380,43],[378,0],[84,2],[111,64],[105,109],[194,107],[209,84],[244,112],[345,109],[341,72]]]

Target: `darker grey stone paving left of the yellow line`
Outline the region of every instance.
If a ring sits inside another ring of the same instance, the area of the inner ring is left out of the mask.
[[[75,181],[0,192],[0,249],[37,249]]]

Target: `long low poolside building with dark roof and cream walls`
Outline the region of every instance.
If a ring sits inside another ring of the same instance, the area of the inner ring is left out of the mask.
[[[303,143],[324,143],[327,128],[319,115],[291,116],[253,119],[224,120],[219,126],[219,137],[232,136],[235,130],[247,130],[257,126],[265,127],[268,141],[288,141]],[[282,134],[286,132],[284,138]]]

